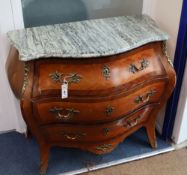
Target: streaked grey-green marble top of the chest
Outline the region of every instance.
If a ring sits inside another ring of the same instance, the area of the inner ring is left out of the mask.
[[[146,15],[26,28],[8,32],[8,37],[22,61],[110,56],[168,39]]]

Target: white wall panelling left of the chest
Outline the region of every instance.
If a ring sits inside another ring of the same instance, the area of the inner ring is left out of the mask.
[[[19,102],[9,87],[5,71],[10,48],[6,32],[23,27],[20,7],[20,0],[0,0],[0,132],[12,129],[25,131]]]

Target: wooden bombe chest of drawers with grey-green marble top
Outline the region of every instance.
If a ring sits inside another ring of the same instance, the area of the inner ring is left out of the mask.
[[[175,86],[167,34],[148,16],[127,16],[8,33],[9,82],[45,174],[52,146],[111,152],[155,122]]]

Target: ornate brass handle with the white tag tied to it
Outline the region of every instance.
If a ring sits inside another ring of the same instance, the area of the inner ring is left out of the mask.
[[[81,76],[77,73],[63,74],[61,72],[55,71],[49,74],[49,77],[55,83],[63,83],[66,80],[68,83],[79,83],[81,80]]]

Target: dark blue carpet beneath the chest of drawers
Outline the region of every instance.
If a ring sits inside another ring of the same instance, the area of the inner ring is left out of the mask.
[[[147,140],[145,129],[142,128],[106,155],[95,155],[79,149],[55,147],[51,149],[47,175],[87,172],[89,169],[109,167],[118,164],[118,162],[127,162],[129,159],[132,160],[133,157],[138,159],[143,155],[145,157],[147,154],[173,149],[171,144],[164,141],[159,135],[157,135],[157,143],[157,149],[153,150]],[[38,174],[39,150],[35,139],[26,139],[23,134],[17,132],[0,134],[0,150],[0,175]],[[114,167],[114,170],[117,169]],[[125,173],[126,171],[122,170],[122,174]],[[118,174],[116,173],[116,175]]]

